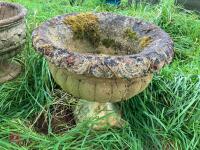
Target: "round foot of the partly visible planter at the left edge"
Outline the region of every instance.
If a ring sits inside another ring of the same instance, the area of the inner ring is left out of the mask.
[[[21,65],[16,61],[1,60],[0,83],[12,80],[21,72]]]

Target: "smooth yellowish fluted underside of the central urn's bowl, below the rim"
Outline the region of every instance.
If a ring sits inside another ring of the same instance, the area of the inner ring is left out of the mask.
[[[54,80],[75,97],[94,102],[118,102],[142,92],[152,80],[152,74],[133,79],[106,79],[71,73],[49,63]]]

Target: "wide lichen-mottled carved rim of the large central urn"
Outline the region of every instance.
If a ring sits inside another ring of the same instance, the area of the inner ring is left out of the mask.
[[[132,79],[158,71],[172,61],[173,41],[167,33],[154,24],[113,13],[94,14],[131,20],[134,22],[133,26],[138,28],[138,32],[141,30],[141,32],[150,33],[152,42],[142,52],[124,56],[80,54],[55,47],[51,39],[47,38],[49,27],[63,24],[65,17],[76,14],[55,17],[35,29],[32,35],[35,49],[60,68],[87,76]]]

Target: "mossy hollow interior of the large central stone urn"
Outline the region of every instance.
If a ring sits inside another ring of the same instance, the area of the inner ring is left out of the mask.
[[[141,52],[152,39],[133,28],[134,21],[103,13],[80,13],[49,26],[48,39],[55,47],[78,53],[130,55]]]

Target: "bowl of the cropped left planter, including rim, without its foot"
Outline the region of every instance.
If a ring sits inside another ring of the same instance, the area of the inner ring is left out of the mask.
[[[16,55],[25,43],[26,9],[20,5],[0,2],[0,59]]]

